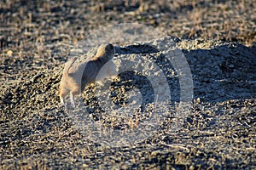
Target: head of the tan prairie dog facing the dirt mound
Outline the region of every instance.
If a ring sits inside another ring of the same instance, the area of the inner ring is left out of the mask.
[[[114,48],[112,44],[103,44],[97,49],[96,56],[93,57],[93,60],[103,59],[109,60],[113,59]]]

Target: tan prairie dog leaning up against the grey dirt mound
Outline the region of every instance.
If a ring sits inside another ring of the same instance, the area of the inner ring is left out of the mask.
[[[81,94],[90,83],[96,82],[96,77],[101,81],[105,77],[116,76],[113,54],[113,45],[104,44],[97,49],[95,56],[84,63],[75,63],[78,58],[69,59],[60,82],[61,105],[66,106],[65,97],[69,94],[71,103],[75,107],[74,96]],[[98,76],[101,69],[102,74]]]

